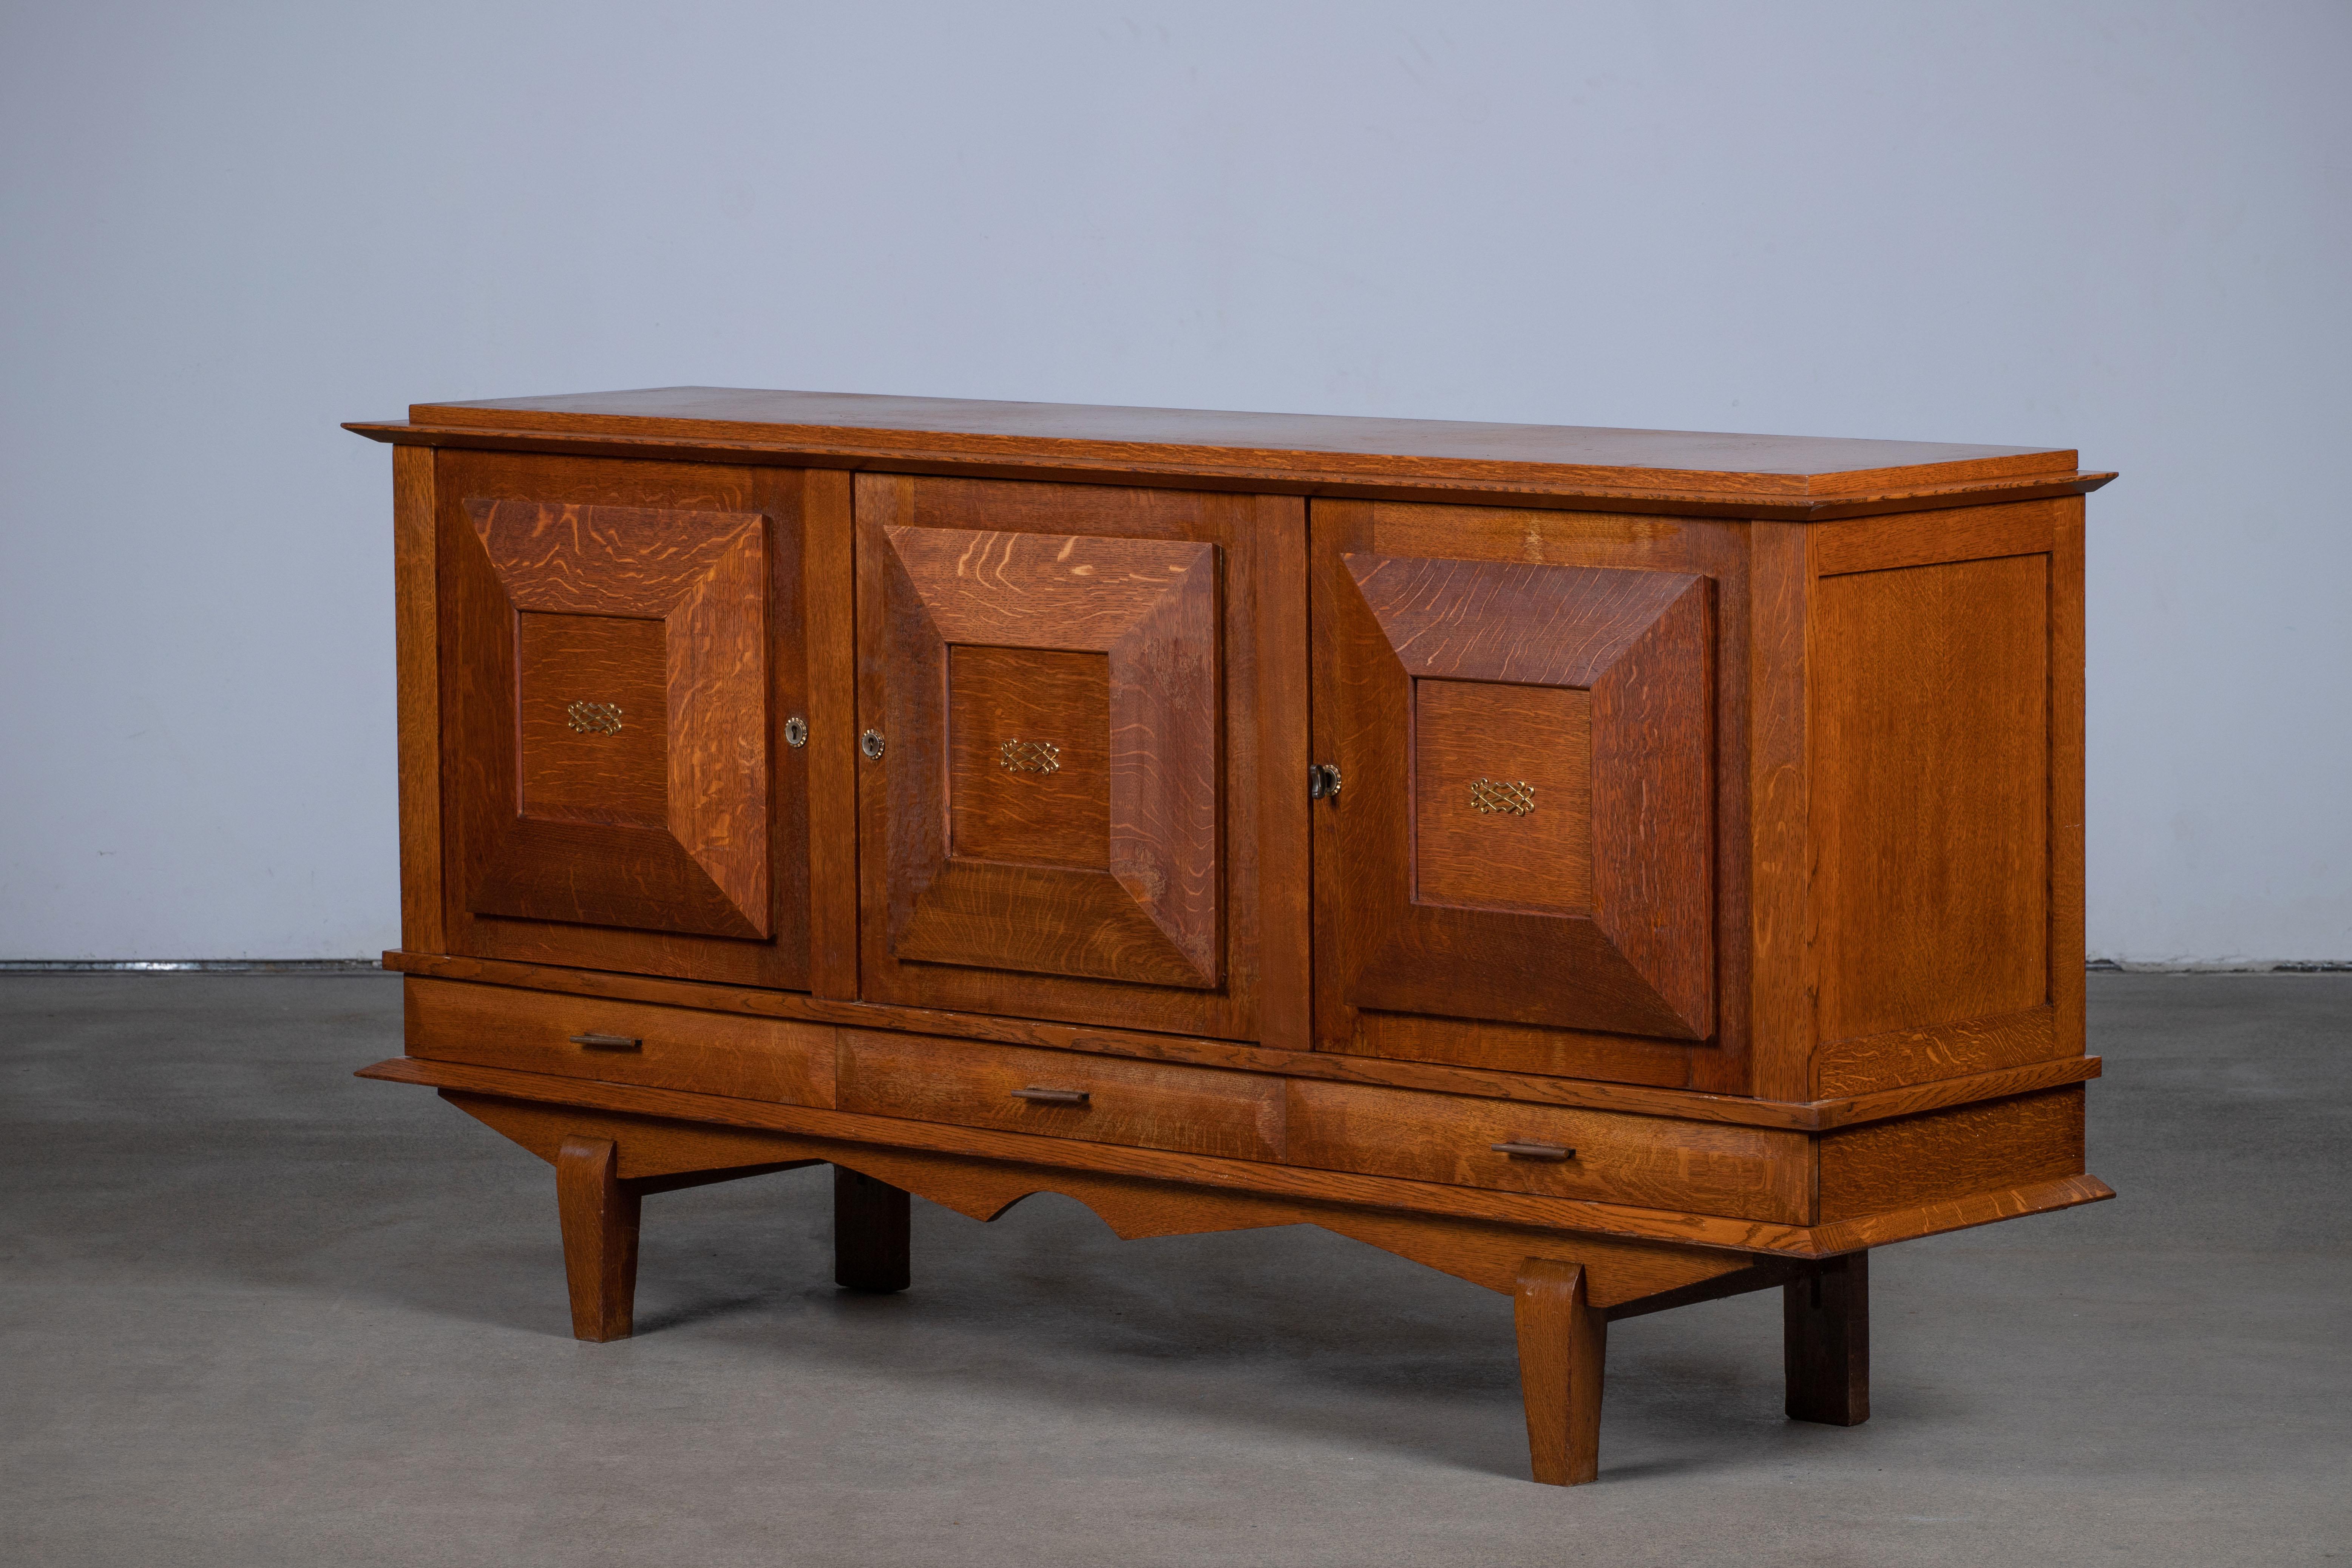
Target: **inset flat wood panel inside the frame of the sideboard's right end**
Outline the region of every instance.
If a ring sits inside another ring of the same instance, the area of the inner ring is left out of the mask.
[[[2049,1001],[2049,557],[1823,578],[1825,1041]]]

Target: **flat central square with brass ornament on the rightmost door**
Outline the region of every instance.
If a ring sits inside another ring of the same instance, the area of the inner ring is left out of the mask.
[[[1414,682],[1414,898],[1592,912],[1592,693]]]

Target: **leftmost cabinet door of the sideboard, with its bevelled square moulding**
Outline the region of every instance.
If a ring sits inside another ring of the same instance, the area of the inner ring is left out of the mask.
[[[807,985],[800,482],[440,454],[454,952]]]

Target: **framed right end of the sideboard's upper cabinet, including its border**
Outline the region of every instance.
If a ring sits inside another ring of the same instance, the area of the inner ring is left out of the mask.
[[[1811,538],[1813,1093],[2084,1051],[2082,510]]]

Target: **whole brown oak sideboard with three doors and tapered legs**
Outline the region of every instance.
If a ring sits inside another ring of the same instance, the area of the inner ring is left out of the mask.
[[[1621,1316],[2084,1173],[2072,451],[661,388],[393,444],[407,1056],[644,1194],[835,1168],[1515,1295],[1538,1481]]]

